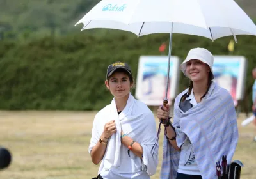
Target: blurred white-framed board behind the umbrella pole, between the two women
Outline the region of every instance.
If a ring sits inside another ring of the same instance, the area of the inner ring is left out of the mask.
[[[179,65],[179,58],[172,56],[167,95],[169,104],[178,92]],[[140,56],[136,79],[136,98],[147,105],[162,105],[166,94],[167,70],[168,56]]]

